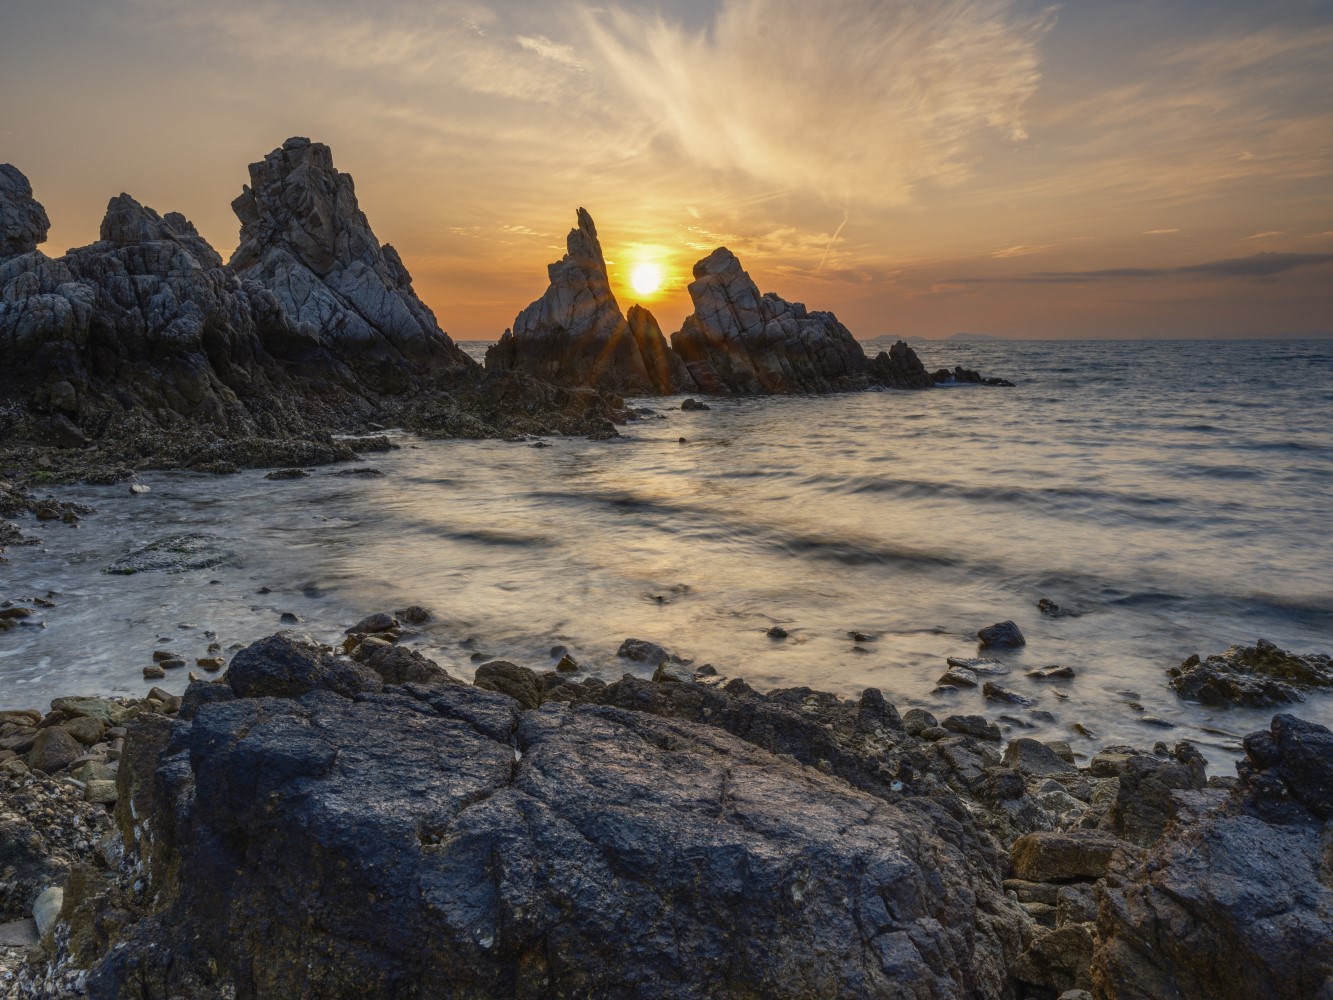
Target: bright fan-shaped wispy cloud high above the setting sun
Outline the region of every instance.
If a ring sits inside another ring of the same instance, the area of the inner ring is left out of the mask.
[[[585,23],[694,161],[845,207],[962,180],[980,132],[1024,139],[1052,16],[1010,0],[724,0],[705,32],[624,8]]]

